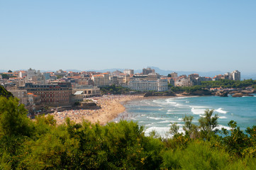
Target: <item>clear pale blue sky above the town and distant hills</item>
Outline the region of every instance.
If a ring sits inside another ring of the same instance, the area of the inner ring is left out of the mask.
[[[255,0],[0,0],[0,69],[255,73],[255,9]]]

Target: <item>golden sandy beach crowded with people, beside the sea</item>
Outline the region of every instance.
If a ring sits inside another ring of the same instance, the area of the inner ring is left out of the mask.
[[[75,123],[81,123],[83,120],[89,120],[91,123],[99,123],[104,125],[109,121],[113,120],[118,116],[118,114],[126,111],[126,108],[122,103],[126,101],[142,99],[143,96],[101,96],[93,98],[98,106],[101,106],[100,109],[96,110],[70,110],[51,113],[55,120],[57,120],[57,125],[65,123],[67,117]]]

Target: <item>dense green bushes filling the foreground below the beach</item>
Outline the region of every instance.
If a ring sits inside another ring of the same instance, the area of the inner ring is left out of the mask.
[[[0,97],[0,169],[255,169],[256,126],[216,135],[218,115],[206,111],[199,125],[184,117],[169,139],[146,137],[137,123],[56,125],[52,116],[34,121],[17,98]]]

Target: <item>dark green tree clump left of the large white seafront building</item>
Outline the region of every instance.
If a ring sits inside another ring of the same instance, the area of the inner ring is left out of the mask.
[[[112,84],[111,86],[101,87],[101,94],[129,94],[130,91],[133,90],[123,86],[116,86],[115,84]]]

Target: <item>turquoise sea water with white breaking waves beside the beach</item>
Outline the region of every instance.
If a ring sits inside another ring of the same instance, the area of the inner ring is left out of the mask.
[[[170,125],[177,123],[179,132],[183,132],[182,118],[185,115],[194,117],[198,125],[199,118],[206,109],[214,109],[218,114],[218,128],[228,128],[228,122],[235,120],[241,130],[256,125],[256,96],[233,98],[219,96],[151,98],[141,101],[129,101],[125,104],[126,112],[118,115],[118,120],[133,120],[145,127],[145,133],[155,130],[162,137],[169,134]]]

